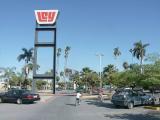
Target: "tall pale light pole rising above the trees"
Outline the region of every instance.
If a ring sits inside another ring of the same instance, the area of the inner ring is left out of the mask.
[[[100,79],[100,88],[102,88],[102,74],[101,74],[101,69],[102,69],[102,57],[104,56],[102,53],[96,54],[96,56],[99,57],[99,79]]]

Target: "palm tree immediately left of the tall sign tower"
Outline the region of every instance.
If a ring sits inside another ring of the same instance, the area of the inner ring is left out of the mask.
[[[27,77],[29,74],[29,68],[28,68],[28,63],[33,59],[33,48],[30,48],[27,50],[26,48],[22,48],[23,53],[20,54],[17,59],[20,62],[21,60],[25,61],[25,68],[24,68],[24,74],[25,74],[25,80],[24,80],[24,87],[27,87]]]

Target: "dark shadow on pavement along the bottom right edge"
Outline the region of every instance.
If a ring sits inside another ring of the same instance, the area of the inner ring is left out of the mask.
[[[148,113],[148,114],[117,114],[111,115],[106,114],[105,117],[109,119],[127,119],[127,120],[160,120],[159,113]]]

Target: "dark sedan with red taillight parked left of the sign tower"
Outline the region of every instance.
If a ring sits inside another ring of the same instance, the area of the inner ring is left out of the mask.
[[[8,92],[0,93],[0,103],[33,103],[40,100],[39,94],[33,94],[29,90],[25,89],[11,89]]]

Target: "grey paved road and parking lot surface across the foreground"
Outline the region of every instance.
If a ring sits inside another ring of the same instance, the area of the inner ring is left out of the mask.
[[[83,100],[76,106],[74,96],[57,96],[47,103],[0,104],[0,120],[160,120],[160,112],[115,108],[110,101]]]

